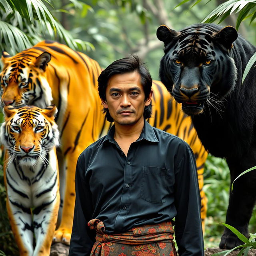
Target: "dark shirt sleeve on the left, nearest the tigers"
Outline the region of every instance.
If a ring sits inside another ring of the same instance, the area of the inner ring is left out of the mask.
[[[87,226],[92,215],[92,196],[85,180],[86,164],[81,155],[76,164],[76,202],[69,256],[89,256],[95,233]]]

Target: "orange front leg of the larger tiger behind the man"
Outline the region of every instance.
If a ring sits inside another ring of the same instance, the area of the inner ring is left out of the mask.
[[[70,150],[71,151],[71,150]],[[66,155],[66,186],[63,202],[62,218],[59,228],[55,231],[54,242],[70,244],[75,206],[75,173],[76,162],[81,151]]]

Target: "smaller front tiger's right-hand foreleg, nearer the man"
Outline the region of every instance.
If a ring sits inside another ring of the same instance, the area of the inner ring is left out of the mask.
[[[57,224],[58,210],[60,205],[60,193],[50,204],[33,210],[33,225],[36,237],[36,247],[33,256],[49,256],[52,238]]]

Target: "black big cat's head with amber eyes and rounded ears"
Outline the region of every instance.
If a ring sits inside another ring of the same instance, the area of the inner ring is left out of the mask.
[[[230,50],[237,32],[233,27],[219,30],[196,24],[176,32],[163,25],[157,36],[165,46],[160,78],[186,114],[202,113],[234,88],[236,66]]]

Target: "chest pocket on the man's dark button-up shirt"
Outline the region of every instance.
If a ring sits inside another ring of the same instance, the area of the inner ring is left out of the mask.
[[[140,197],[154,204],[162,204],[168,195],[168,169],[143,166]]]

